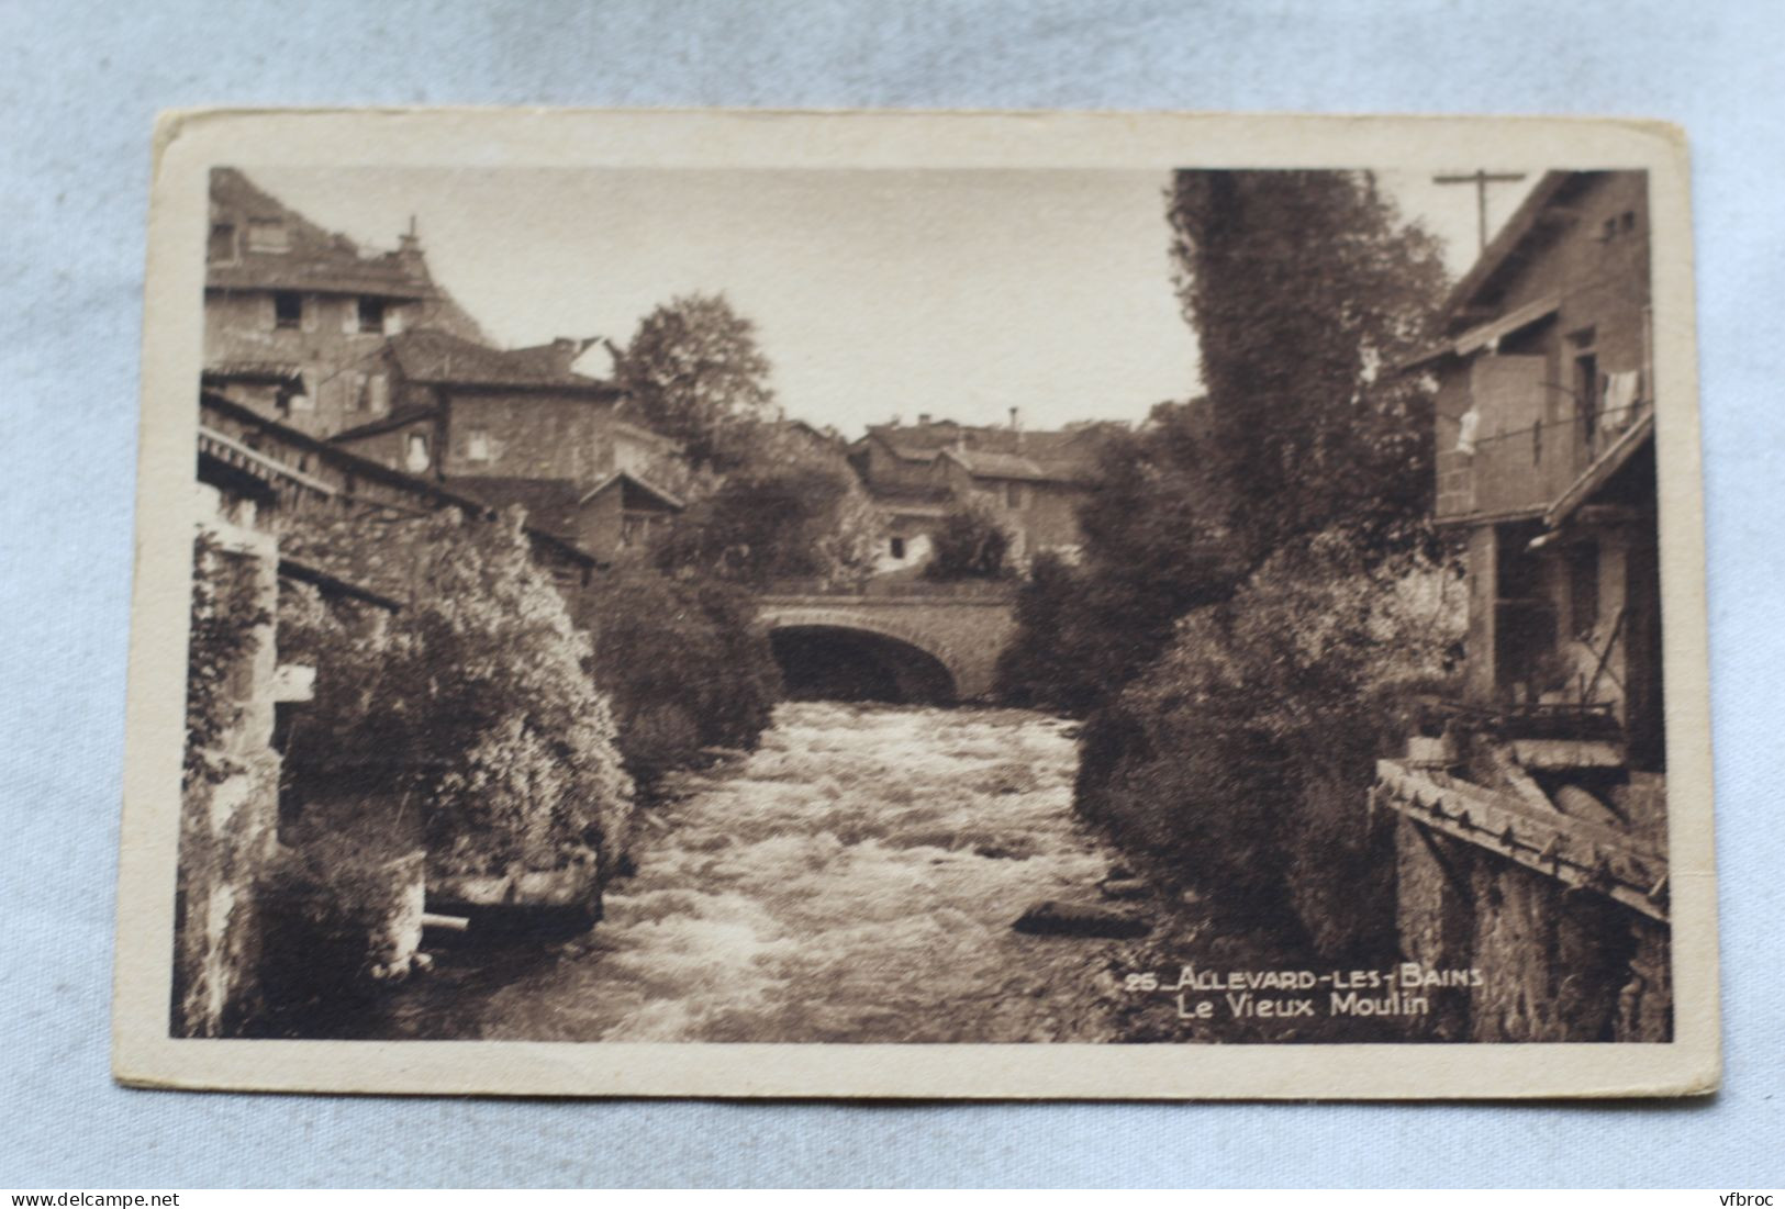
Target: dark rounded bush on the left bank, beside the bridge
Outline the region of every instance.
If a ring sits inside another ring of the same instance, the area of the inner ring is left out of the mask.
[[[641,785],[698,763],[702,749],[757,745],[780,670],[746,592],[627,569],[577,597],[577,621],[594,638],[594,678]]]

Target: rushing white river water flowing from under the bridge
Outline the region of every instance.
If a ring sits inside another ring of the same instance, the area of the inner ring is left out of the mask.
[[[743,769],[639,829],[587,936],[398,1013],[411,1034],[610,1041],[1107,1040],[1117,942],[1025,936],[1114,852],[1067,724],[789,703]],[[439,991],[446,991],[441,986]]]

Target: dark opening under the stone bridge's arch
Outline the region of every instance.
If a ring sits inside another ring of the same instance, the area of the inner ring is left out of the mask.
[[[793,701],[955,703],[948,665],[891,635],[793,624],[771,629],[769,646]]]

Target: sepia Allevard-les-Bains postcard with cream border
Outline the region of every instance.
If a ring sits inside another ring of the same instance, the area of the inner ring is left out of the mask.
[[[1719,1079],[1635,121],[157,132],[116,1075]]]

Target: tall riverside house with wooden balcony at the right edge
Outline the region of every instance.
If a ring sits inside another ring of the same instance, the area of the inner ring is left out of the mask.
[[[1673,1031],[1648,218],[1644,173],[1546,175],[1405,366],[1437,382],[1469,628],[1371,804],[1403,956],[1483,974],[1444,1040]]]

